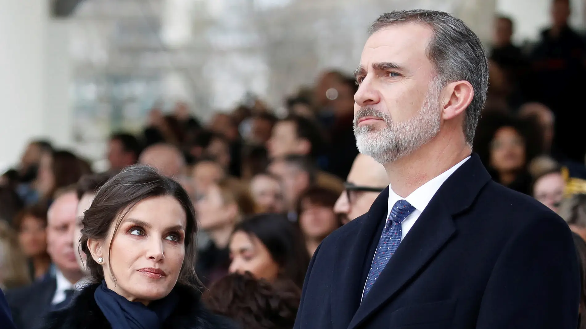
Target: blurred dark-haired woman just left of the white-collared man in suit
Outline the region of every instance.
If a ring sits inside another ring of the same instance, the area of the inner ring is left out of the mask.
[[[39,203],[22,210],[13,221],[18,240],[29,262],[29,276],[33,280],[43,278],[51,266],[47,254],[47,206]]]

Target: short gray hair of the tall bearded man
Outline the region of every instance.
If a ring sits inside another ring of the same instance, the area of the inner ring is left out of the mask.
[[[384,13],[370,26],[369,34],[405,23],[431,27],[433,35],[427,45],[427,56],[434,65],[442,88],[453,81],[465,80],[472,85],[474,98],[466,109],[464,121],[466,143],[472,146],[488,89],[488,60],[480,39],[462,20],[449,13],[423,9]]]

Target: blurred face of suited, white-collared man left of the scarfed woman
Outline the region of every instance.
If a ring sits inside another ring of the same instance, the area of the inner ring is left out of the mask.
[[[66,193],[52,203],[47,212],[47,252],[64,275],[79,275],[76,259],[77,243],[73,236],[76,230],[77,195]]]

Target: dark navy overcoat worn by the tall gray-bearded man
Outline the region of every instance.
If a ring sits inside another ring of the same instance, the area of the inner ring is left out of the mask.
[[[577,327],[570,229],[493,182],[477,155],[442,184],[361,303],[388,198],[387,188],[316,250],[295,328]]]

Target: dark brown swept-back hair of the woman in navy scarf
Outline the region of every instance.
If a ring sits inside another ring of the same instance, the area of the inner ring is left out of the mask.
[[[81,223],[81,250],[87,255],[87,268],[91,279],[99,283],[104,279],[102,265],[94,261],[87,247],[87,240],[105,240],[114,225],[113,239],[110,243],[108,255],[112,251],[112,243],[122,219],[132,207],[144,199],[155,196],[172,196],[175,198],[187,219],[185,228],[185,258],[179,273],[178,282],[183,285],[193,286],[200,284],[195,273],[195,256],[197,224],[193,203],[188,193],[176,181],[159,174],[156,169],[145,165],[132,165],[122,169],[120,173],[108,180],[96,193],[91,206],[83,214]],[[111,271],[111,266],[110,266]],[[112,273],[114,282],[116,278]]]

